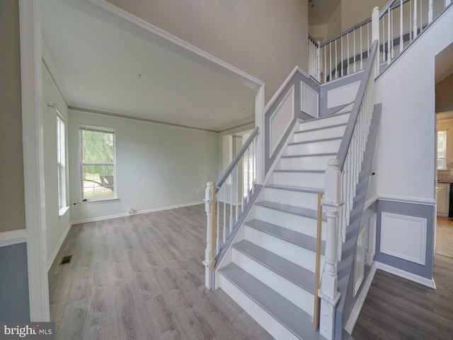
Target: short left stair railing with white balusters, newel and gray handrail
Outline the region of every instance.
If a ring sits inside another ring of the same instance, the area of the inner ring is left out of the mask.
[[[207,215],[205,249],[205,286],[214,288],[217,256],[239,226],[256,194],[256,144],[258,127],[217,182],[207,182],[205,210]]]

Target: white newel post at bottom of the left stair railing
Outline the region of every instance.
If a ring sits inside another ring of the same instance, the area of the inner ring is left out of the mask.
[[[214,198],[214,199],[213,199]],[[205,189],[205,210],[206,210],[206,250],[205,250],[205,286],[212,286],[212,271],[214,270],[214,204],[215,204],[215,183],[207,182]]]

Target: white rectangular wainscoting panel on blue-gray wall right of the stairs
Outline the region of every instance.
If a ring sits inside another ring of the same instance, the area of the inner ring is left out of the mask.
[[[425,265],[425,218],[382,212],[381,253]]]

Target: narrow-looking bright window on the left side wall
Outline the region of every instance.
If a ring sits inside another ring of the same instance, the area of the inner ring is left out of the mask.
[[[63,215],[66,204],[66,143],[64,138],[64,121],[57,114],[57,181],[58,181],[58,210]],[[64,210],[64,211],[63,211]]]

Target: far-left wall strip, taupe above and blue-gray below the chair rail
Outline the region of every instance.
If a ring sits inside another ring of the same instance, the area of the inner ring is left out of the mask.
[[[25,228],[18,1],[0,1],[0,232]],[[28,321],[27,247],[0,247],[0,320]]]

